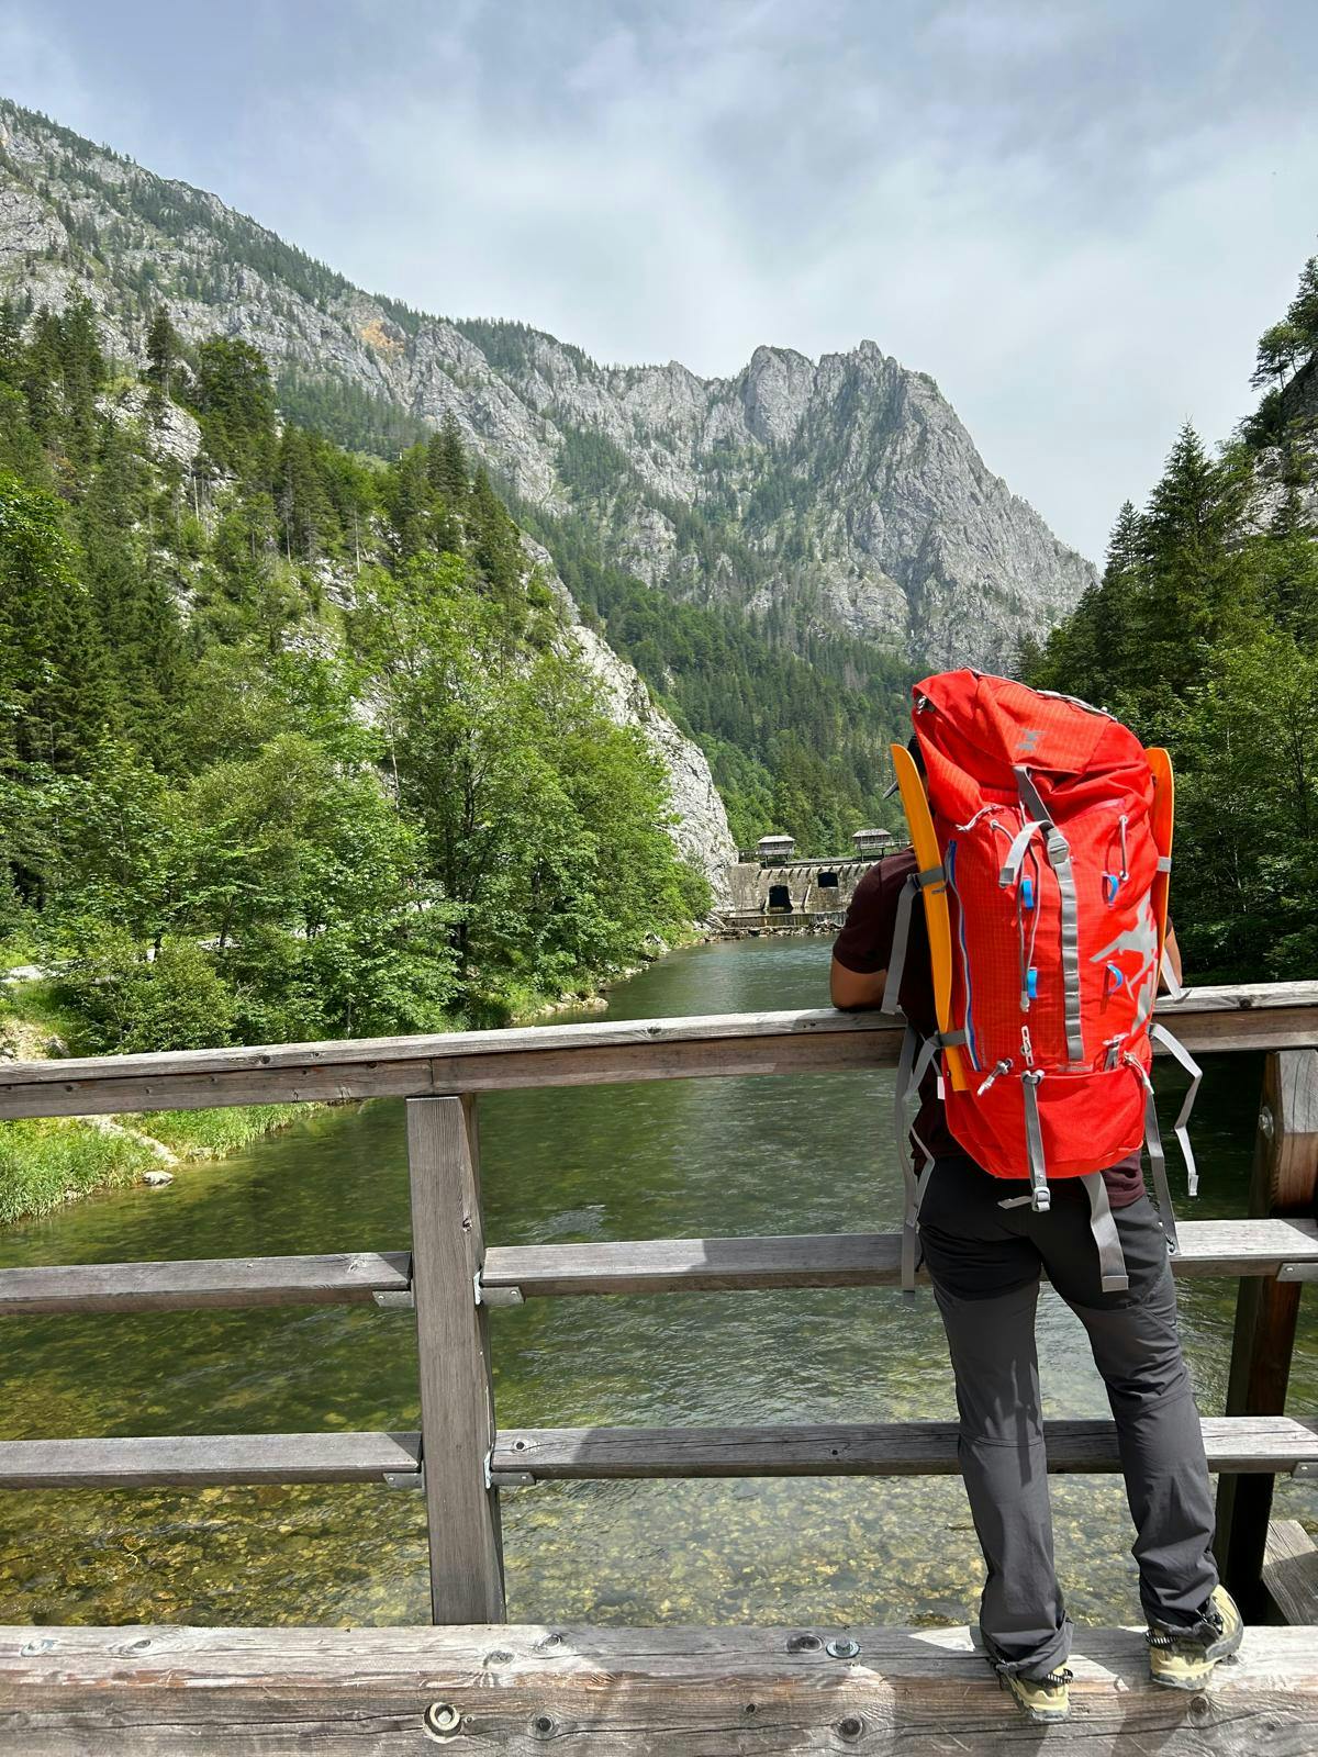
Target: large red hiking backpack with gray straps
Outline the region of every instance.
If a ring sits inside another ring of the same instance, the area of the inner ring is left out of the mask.
[[[923,787],[909,750],[894,745],[893,761],[919,871],[903,893],[884,1009],[896,1010],[909,908],[923,891],[940,1030],[923,1047],[909,1033],[898,1103],[940,1054],[949,1130],[984,1170],[1030,1179],[1016,1200],[1042,1211],[1049,1179],[1088,1179],[1104,1286],[1121,1288],[1105,1186],[1090,1174],[1144,1142],[1176,1249],[1155,1037],[1191,1074],[1176,1132],[1195,1193],[1184,1130],[1199,1068],[1151,1021],[1165,966],[1170,763],[1098,708],[981,671],[924,678],[912,719]],[[914,1179],[909,1233],[921,1193]]]

